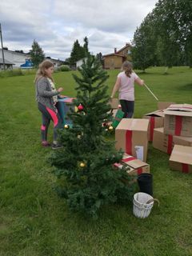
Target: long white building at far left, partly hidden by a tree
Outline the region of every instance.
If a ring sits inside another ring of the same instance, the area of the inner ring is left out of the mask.
[[[8,64],[10,62],[12,64],[12,68],[33,68],[33,63],[31,62],[30,54],[23,54],[14,50],[3,50],[4,58]],[[0,49],[0,59],[2,59],[2,49]],[[55,67],[61,66],[63,61],[55,58],[46,58],[54,63]],[[9,66],[9,65],[8,65]],[[7,66],[7,67],[8,67]],[[9,66],[10,68],[10,66]],[[1,68],[3,69],[3,68]]]

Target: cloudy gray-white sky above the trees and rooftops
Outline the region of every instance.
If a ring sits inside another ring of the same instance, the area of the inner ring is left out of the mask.
[[[3,46],[31,49],[35,39],[51,58],[70,57],[74,41],[89,40],[93,54],[131,42],[158,0],[0,0]]]

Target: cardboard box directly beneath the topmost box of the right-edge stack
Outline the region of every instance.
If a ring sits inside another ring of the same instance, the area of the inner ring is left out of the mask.
[[[171,154],[175,144],[192,146],[192,138],[164,134],[163,127],[154,129],[153,146],[155,149],[161,150],[167,154]]]

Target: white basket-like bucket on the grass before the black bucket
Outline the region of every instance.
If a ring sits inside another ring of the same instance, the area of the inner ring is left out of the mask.
[[[150,194],[136,193],[134,194],[134,216],[138,218],[146,218],[150,215],[150,210],[154,206],[154,198]]]

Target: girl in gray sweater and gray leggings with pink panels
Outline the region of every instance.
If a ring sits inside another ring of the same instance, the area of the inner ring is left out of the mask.
[[[50,125],[50,120],[54,122],[54,143],[52,148],[57,149],[58,133],[57,130],[62,128],[62,119],[58,114],[57,102],[58,94],[62,92],[62,87],[55,89],[52,74],[54,72],[54,64],[48,60],[39,64],[39,68],[35,77],[35,92],[36,101],[38,102],[38,110],[42,113],[42,146],[50,146],[47,142],[47,131]]]

